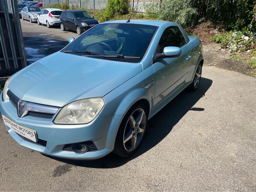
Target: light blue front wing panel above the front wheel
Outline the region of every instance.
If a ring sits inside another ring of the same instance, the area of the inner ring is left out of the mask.
[[[147,89],[145,89],[144,86],[151,81],[155,81],[153,66],[143,70],[141,73],[104,96],[105,106],[100,114],[115,114],[115,118],[112,119],[111,125],[109,126],[106,141],[108,145],[112,143],[112,149],[115,144],[115,138],[120,123],[134,103],[140,99],[146,99],[149,104],[148,114],[150,113],[151,106],[153,106],[153,98],[155,97],[155,84]]]

